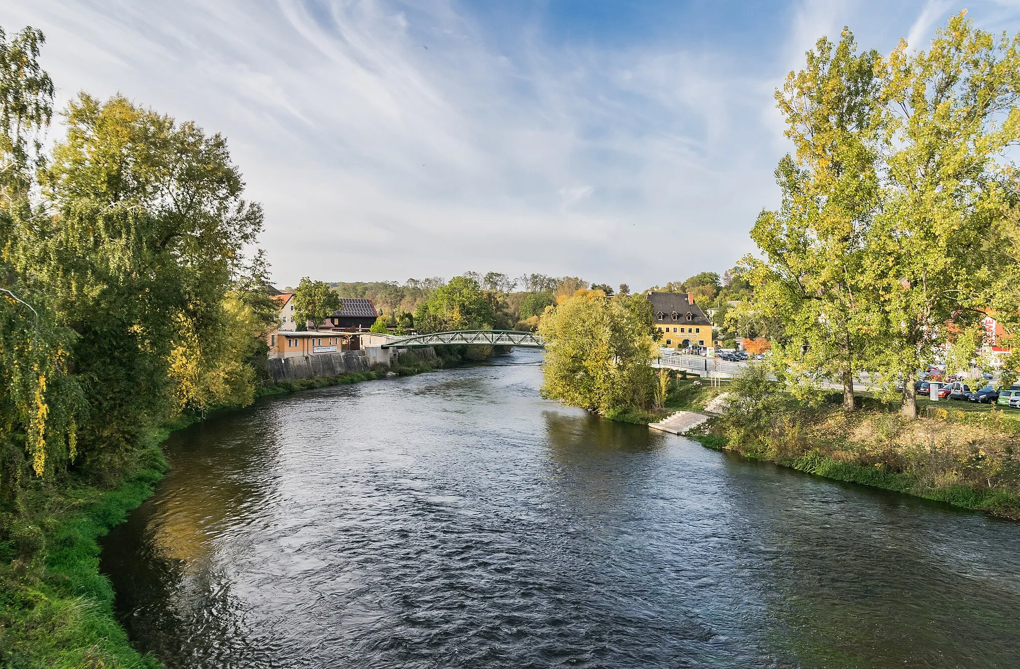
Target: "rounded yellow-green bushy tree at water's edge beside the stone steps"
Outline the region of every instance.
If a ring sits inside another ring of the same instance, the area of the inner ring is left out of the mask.
[[[647,408],[654,390],[652,305],[643,296],[577,292],[539,323],[542,396],[603,415]]]

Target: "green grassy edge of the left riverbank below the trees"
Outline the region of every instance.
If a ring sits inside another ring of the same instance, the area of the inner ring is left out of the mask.
[[[264,385],[256,397],[416,374],[444,361],[405,355],[401,363],[392,370]],[[167,467],[160,445],[196,421],[182,418],[153,430],[103,480],[64,473],[32,481],[17,513],[0,520],[9,525],[9,539],[0,542],[0,667],[160,666],[131,647],[116,621],[113,590],[99,573],[98,538],[153,494]]]

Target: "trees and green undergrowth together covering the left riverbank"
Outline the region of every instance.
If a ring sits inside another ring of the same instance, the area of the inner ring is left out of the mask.
[[[250,404],[276,308],[219,135],[121,96],[43,137],[43,35],[0,32],[0,664],[148,666],[95,537],[151,493],[165,425]]]

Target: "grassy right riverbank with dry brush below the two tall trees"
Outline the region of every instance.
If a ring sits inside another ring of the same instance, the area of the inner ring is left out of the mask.
[[[729,391],[729,409],[692,439],[826,478],[1020,519],[1018,411],[958,402],[928,411],[924,402],[921,417],[904,420],[896,405],[869,396],[846,412],[835,396],[802,403],[770,388],[742,397],[750,390],[681,380],[667,404],[698,411]]]

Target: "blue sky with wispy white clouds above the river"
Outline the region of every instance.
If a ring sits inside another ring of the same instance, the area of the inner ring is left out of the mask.
[[[965,7],[1020,31],[1005,0],[8,0],[0,24],[46,33],[61,104],[120,92],[226,136],[280,286],[646,288],[754,250],[787,151],[772,93],[818,37],[923,48]]]

